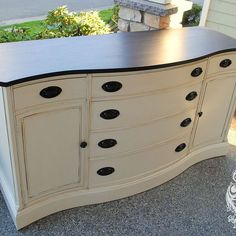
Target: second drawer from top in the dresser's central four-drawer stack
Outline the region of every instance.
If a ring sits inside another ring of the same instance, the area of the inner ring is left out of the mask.
[[[93,102],[91,129],[103,130],[139,125],[195,108],[199,96],[192,101],[187,101],[186,96],[193,91],[199,95],[200,86],[201,84],[194,84],[126,100]],[[119,111],[119,116],[111,120],[103,119],[100,114],[108,109]]]

